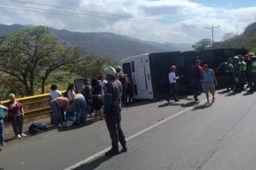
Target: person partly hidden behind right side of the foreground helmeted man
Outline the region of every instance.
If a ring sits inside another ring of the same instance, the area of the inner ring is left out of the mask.
[[[127,90],[127,76],[121,72],[121,67],[116,67],[116,72],[118,73],[117,79],[122,83],[122,106],[127,104],[126,90]]]

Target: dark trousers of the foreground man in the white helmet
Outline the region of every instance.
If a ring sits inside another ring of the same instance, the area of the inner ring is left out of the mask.
[[[122,147],[126,147],[125,135],[121,128],[121,109],[111,108],[109,115],[107,115],[107,129],[111,138],[111,144],[113,150],[118,150],[118,141]]]

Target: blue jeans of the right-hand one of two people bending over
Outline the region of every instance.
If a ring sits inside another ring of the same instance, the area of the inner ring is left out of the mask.
[[[76,116],[76,123],[80,125],[81,122],[85,123],[87,114],[86,114],[86,100],[84,98],[75,98],[73,100],[73,108]],[[81,117],[80,117],[81,116]]]

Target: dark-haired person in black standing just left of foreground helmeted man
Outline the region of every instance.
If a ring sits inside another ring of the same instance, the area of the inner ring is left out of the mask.
[[[95,109],[95,118],[100,116],[100,120],[103,120],[103,100],[102,100],[102,87],[97,79],[91,81],[91,96],[93,97],[93,109]]]

